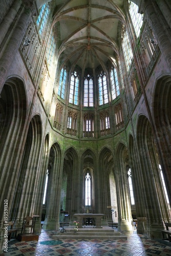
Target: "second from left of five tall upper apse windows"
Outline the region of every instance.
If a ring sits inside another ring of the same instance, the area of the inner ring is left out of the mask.
[[[74,105],[78,105],[78,86],[79,86],[78,75],[76,72],[73,72],[70,80],[69,102]]]

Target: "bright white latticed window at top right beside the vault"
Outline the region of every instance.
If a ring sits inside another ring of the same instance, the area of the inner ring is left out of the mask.
[[[130,4],[130,15],[133,22],[133,26],[136,32],[136,36],[139,37],[139,34],[141,32],[141,27],[143,23],[143,15],[138,13],[138,6],[134,4],[133,2],[129,1]]]

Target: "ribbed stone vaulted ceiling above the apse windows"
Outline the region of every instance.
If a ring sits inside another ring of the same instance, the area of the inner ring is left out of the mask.
[[[38,1],[40,4],[40,0]],[[46,1],[43,1],[46,2]],[[125,24],[125,0],[53,0],[61,65],[82,70],[115,62],[119,21]],[[42,3],[43,4],[43,3]]]

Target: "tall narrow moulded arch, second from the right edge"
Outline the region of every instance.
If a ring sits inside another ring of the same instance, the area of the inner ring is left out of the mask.
[[[143,211],[147,221],[146,232],[149,237],[160,236],[160,234],[156,233],[156,227],[163,227],[163,221],[168,222],[169,213],[160,176],[156,144],[151,123],[144,115],[140,115],[138,118],[137,145],[142,168],[140,186],[144,198]],[[159,208],[161,211],[157,210]],[[153,223],[151,220],[153,220]],[[149,225],[149,223],[151,223],[151,225]]]

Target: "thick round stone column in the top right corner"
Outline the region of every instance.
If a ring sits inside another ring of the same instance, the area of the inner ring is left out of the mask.
[[[160,15],[156,12],[157,8],[154,8],[154,5],[158,8],[155,2],[151,2],[148,0],[144,1],[144,13],[146,14],[146,18],[153,30],[155,35],[155,39],[159,45],[159,48],[166,60],[168,68],[171,71],[171,44],[170,44],[170,36],[171,30],[168,30],[168,27],[164,26],[161,23]]]

